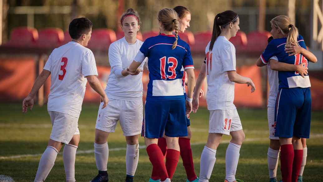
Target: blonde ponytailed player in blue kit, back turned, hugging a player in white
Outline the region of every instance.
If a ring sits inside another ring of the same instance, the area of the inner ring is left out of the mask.
[[[277,63],[291,65],[305,63],[308,60],[317,62],[317,58],[310,52],[304,51],[306,45],[303,37],[298,35],[297,28],[288,16],[276,16],[271,20],[271,34],[274,39],[267,45],[260,56],[264,64],[272,56],[278,58],[270,61],[270,67],[278,71],[278,94],[275,105],[275,137],[280,141],[280,162],[283,182],[296,182],[300,173],[303,159],[303,145],[301,138],[309,138],[311,121],[311,92],[308,75],[304,77],[295,69],[288,70]],[[303,49],[298,48],[302,47]],[[287,49],[287,50],[285,50]],[[290,49],[299,52],[286,54]]]

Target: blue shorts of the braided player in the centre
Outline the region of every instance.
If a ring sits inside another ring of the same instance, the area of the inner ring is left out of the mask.
[[[185,119],[185,100],[146,100],[141,136],[147,138],[185,137],[188,135]]]

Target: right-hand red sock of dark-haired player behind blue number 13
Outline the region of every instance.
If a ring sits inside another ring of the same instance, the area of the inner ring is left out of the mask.
[[[193,181],[197,177],[194,172],[194,163],[193,163],[193,156],[192,156],[192,148],[191,148],[191,144],[190,144],[190,139],[180,137],[178,139],[178,144],[180,145],[181,157],[183,160],[183,166],[185,167],[187,179],[189,181]]]

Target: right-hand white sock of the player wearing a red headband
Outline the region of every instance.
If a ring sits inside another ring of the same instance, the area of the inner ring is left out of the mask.
[[[127,175],[134,176],[139,159],[139,144],[128,145],[126,152],[126,170]]]

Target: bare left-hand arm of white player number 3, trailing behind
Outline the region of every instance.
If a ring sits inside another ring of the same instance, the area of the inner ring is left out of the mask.
[[[22,102],[22,112],[26,113],[28,110],[28,107],[30,107],[30,111],[33,109],[34,106],[34,97],[39,90],[39,88],[45,83],[48,76],[50,75],[50,71],[44,69],[39,76],[36,78],[35,83],[33,87],[31,88],[31,91],[29,92],[28,96],[23,100]]]

